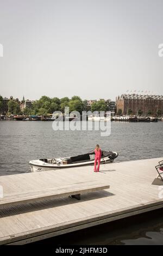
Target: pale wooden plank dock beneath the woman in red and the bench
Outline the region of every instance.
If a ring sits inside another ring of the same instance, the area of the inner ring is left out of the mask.
[[[110,185],[83,194],[79,201],[63,196],[0,209],[0,245],[39,241],[162,208],[163,182],[154,168],[160,160],[102,164],[99,173],[88,166],[0,176],[4,196],[90,181]]]

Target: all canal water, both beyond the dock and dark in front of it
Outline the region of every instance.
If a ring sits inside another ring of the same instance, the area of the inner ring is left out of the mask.
[[[89,124],[89,121],[88,121]],[[99,144],[117,151],[116,161],[162,157],[163,122],[111,123],[111,134],[101,131],[54,131],[47,121],[0,121],[0,175],[30,172],[30,160],[83,154]],[[76,245],[163,245],[163,211],[128,218],[54,237],[41,243]]]

